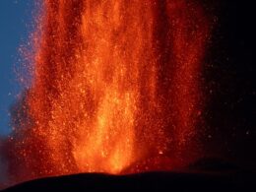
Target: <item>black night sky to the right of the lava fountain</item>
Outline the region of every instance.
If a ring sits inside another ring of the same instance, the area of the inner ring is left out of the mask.
[[[215,12],[218,23],[204,75],[205,146],[209,154],[255,167],[255,6],[225,0]]]

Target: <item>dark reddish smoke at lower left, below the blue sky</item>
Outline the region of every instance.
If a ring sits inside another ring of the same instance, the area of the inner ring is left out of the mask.
[[[19,160],[22,144],[26,140],[26,132],[32,129],[32,119],[28,114],[27,96],[25,90],[18,96],[10,108],[12,133],[0,138],[0,186],[10,185],[17,182],[26,172],[24,164]],[[22,181],[21,179],[19,181]],[[26,179],[25,179],[26,180]]]

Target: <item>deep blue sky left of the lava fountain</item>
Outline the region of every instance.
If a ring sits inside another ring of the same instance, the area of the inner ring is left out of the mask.
[[[20,88],[14,73],[18,48],[26,43],[32,26],[33,0],[0,0],[0,136],[10,133],[10,105]]]

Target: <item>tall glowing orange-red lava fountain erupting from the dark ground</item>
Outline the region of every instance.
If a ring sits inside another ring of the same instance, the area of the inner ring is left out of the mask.
[[[200,3],[41,7],[32,82],[7,145],[10,178],[170,170],[195,157],[209,32]]]

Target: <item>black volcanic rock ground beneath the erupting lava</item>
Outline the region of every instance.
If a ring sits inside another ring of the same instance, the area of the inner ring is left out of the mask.
[[[8,188],[16,191],[255,191],[255,173],[148,172],[113,176],[77,174],[29,181]]]

